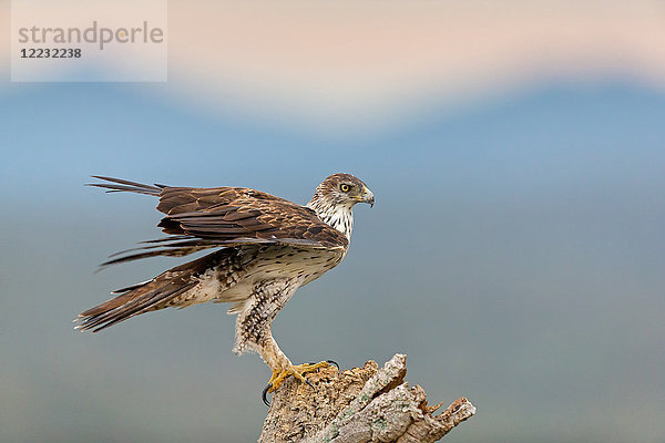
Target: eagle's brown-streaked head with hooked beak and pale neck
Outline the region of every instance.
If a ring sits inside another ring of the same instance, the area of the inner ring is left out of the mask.
[[[352,208],[357,203],[374,206],[374,194],[360,178],[338,173],[327,177],[307,204],[319,218],[351,238],[354,228]]]

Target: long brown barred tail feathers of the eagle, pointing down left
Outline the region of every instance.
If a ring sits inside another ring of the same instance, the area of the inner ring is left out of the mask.
[[[221,249],[205,257],[172,268],[154,279],[120,289],[117,297],[79,315],[75,329],[101,331],[141,313],[177,306],[177,297],[200,284],[200,277],[231,254]]]

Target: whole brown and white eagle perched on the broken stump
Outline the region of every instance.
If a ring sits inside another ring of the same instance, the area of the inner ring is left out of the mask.
[[[374,206],[375,197],[360,179],[334,174],[305,206],[245,187],[171,187],[119,178],[91,184],[108,192],[158,197],[166,216],[158,227],[170,236],[144,241],[102,266],[154,256],[182,257],[216,250],[168,269],[152,280],[120,289],[115,298],[79,315],[78,329],[99,331],[141,313],[206,301],[233,303],[237,315],[237,354],[255,351],[273,371],[264,390],[275,391],[293,375],[325,367],[294,365],[270,332],[273,320],[301,286],[337,266],[347,254],[357,203]],[[112,256],[112,257],[114,257]]]

